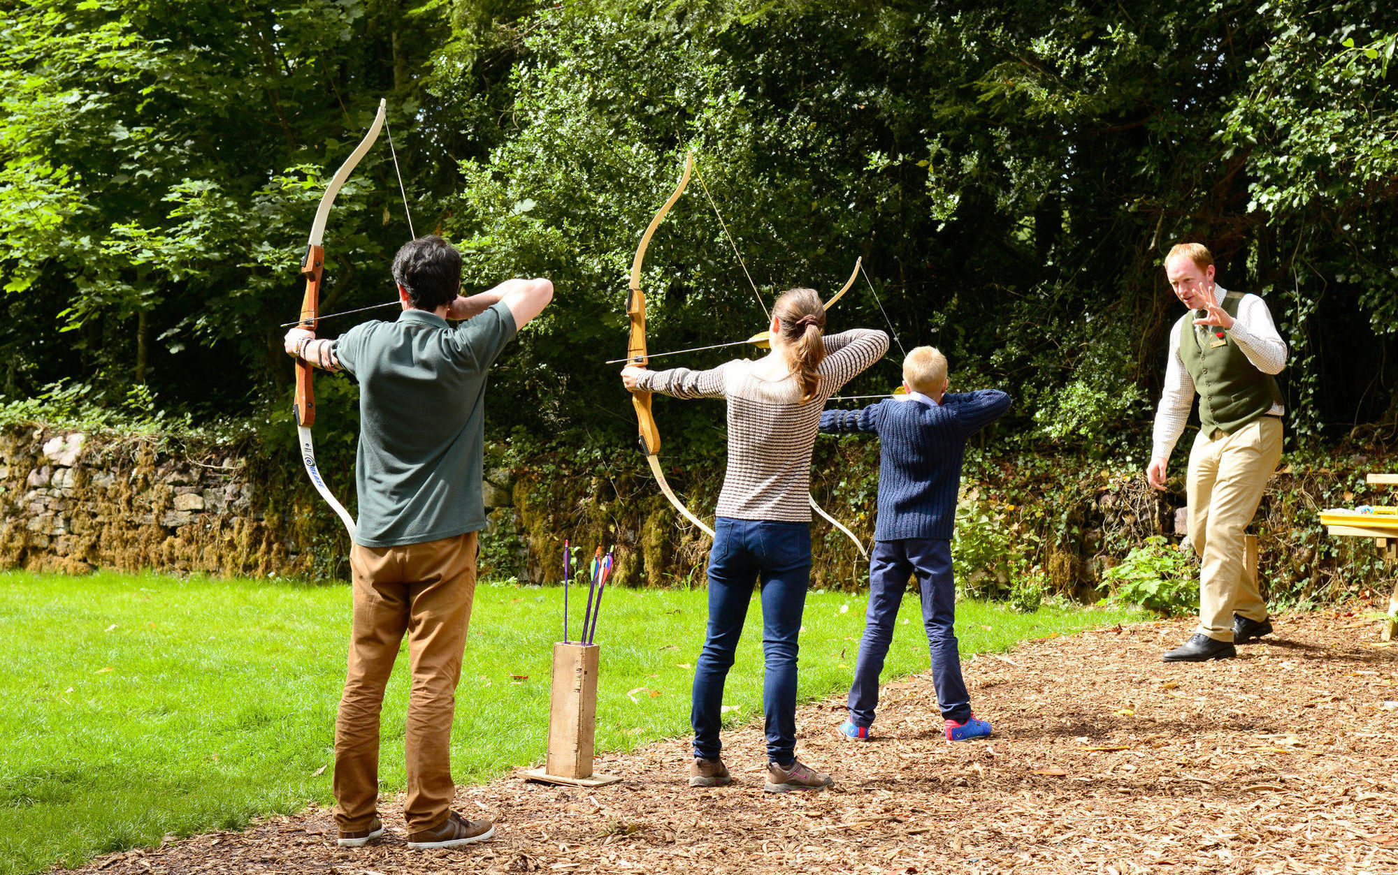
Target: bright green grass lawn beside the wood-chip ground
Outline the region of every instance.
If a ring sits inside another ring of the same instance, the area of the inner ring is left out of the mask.
[[[542,759],[561,605],[558,587],[477,590],[452,742],[459,783]],[[1127,618],[963,602],[958,635],[969,657]],[[863,619],[861,597],[811,594],[802,699],[847,686]],[[0,874],[329,802],[348,623],[344,586],[0,573]],[[916,598],[899,623],[885,677],[927,667]],[[608,590],[598,749],[688,732],[703,626],[702,590]],[[761,713],[761,639],[755,604],[728,679],[731,721]],[[405,667],[384,706],[389,791],[403,786]]]

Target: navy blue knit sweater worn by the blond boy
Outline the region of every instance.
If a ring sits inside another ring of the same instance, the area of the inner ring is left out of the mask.
[[[995,389],[946,393],[941,404],[889,398],[864,410],[828,410],[821,431],[878,435],[875,541],[949,541],[966,439],[1007,410],[1009,396]]]

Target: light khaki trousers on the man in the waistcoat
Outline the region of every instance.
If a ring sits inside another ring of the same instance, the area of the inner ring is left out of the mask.
[[[1232,435],[1199,431],[1190,451],[1190,542],[1199,555],[1199,628],[1233,640],[1233,614],[1265,619],[1267,602],[1243,559],[1243,534],[1282,457],[1282,421],[1260,417]]]

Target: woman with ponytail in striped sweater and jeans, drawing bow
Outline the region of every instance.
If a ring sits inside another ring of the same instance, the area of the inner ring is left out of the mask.
[[[830,786],[795,759],[797,636],[811,580],[811,447],[825,401],[888,351],[882,331],[823,337],[825,306],[791,289],[772,308],[772,352],[710,370],[626,368],[633,391],[728,403],[728,470],[709,554],[709,629],[695,668],[691,787],[733,777],[719,753],[723,684],[761,580],[769,793]]]

